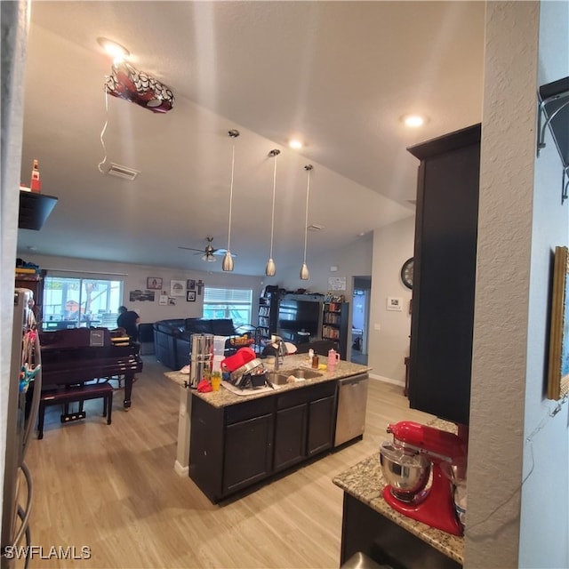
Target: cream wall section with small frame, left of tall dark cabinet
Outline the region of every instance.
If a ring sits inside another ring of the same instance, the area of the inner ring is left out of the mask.
[[[405,384],[404,358],[409,355],[409,301],[412,296],[412,291],[401,281],[401,267],[405,260],[413,257],[414,231],[413,215],[376,229],[373,236],[368,365],[373,368],[373,377],[400,384]],[[400,298],[403,310],[388,310],[388,297]]]

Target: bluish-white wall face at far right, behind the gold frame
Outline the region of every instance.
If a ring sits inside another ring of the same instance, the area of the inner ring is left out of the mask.
[[[568,37],[569,3],[541,3],[538,85],[569,76]],[[533,193],[523,469],[527,480],[519,540],[519,566],[528,569],[569,567],[569,410],[566,401],[559,406],[544,398],[552,251],[569,244],[569,202],[561,205],[560,194],[561,161],[548,129],[546,148],[535,161]]]

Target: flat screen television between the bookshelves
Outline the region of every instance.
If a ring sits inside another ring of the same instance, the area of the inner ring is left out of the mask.
[[[282,300],[278,306],[277,333],[286,341],[310,341],[320,336],[322,303]]]

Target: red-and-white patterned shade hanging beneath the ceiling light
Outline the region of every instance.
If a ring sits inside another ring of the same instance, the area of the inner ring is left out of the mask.
[[[174,95],[170,87],[124,61],[113,65],[105,89],[114,97],[130,100],[154,113],[166,113],[174,105]]]

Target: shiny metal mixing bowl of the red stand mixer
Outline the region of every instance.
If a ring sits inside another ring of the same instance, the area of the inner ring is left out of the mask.
[[[429,482],[430,461],[420,453],[385,441],[380,447],[380,461],[391,493],[401,501],[413,501]]]

